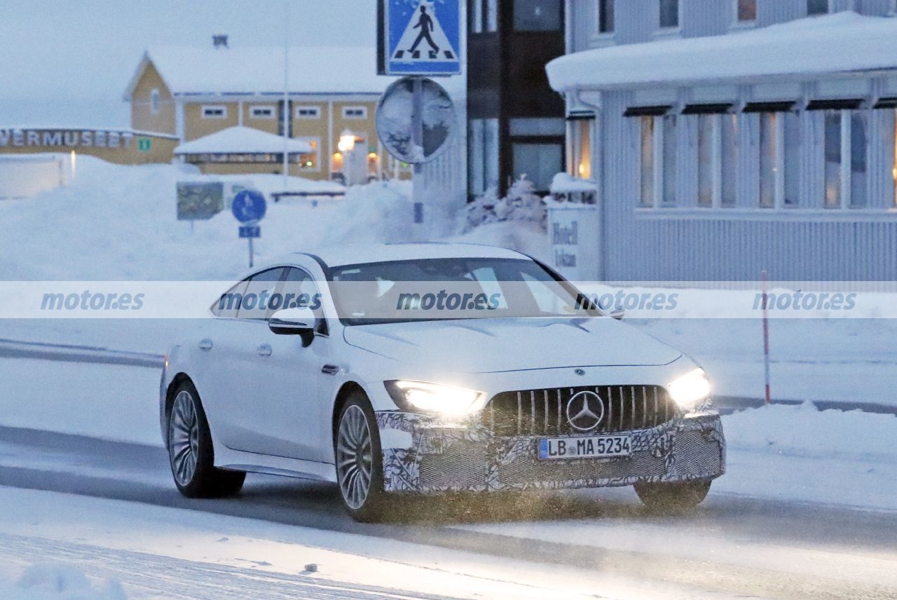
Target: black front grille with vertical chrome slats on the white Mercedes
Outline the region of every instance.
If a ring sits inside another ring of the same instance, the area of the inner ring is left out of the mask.
[[[570,398],[594,392],[604,414],[597,427],[577,430],[567,418]],[[676,406],[662,386],[586,386],[501,392],[483,409],[483,425],[500,437],[614,433],[657,427],[675,416]]]

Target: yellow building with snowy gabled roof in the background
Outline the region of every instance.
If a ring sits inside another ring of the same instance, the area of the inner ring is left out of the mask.
[[[125,93],[135,130],[187,143],[231,127],[283,135],[285,125],[291,138],[311,147],[291,154],[291,175],[329,179],[344,173],[349,183],[360,183],[358,178],[396,172],[374,126],[377,101],[391,79],[376,74],[373,48],[291,48],[284,57],[283,48],[215,42],[214,48],[146,51]],[[351,152],[340,152],[341,137],[353,139]],[[282,160],[283,154],[248,152],[191,159],[204,172],[220,174],[282,173]]]

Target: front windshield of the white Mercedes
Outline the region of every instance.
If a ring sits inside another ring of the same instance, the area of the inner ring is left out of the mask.
[[[594,317],[573,285],[536,261],[427,258],[336,267],[330,290],[344,325],[495,317]]]

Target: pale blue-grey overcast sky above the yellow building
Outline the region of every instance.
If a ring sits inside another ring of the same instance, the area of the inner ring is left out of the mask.
[[[0,0],[0,127],[126,126],[144,49],[283,43],[373,46],[374,0]]]

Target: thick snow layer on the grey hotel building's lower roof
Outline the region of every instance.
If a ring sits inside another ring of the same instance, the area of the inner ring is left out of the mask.
[[[597,48],[546,66],[556,91],[897,69],[897,19],[853,12],[709,38]]]

